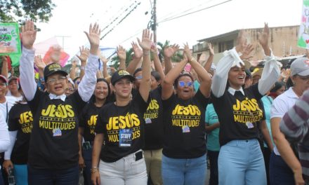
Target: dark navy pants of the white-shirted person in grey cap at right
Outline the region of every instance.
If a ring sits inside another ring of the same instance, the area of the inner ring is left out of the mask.
[[[273,151],[270,154],[269,176],[271,185],[295,184],[293,171],[282,157],[277,156]]]

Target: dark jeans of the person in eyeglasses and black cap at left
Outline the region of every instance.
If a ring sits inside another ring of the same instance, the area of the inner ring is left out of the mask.
[[[28,165],[28,184],[75,185],[79,183],[79,166],[63,170],[35,169]]]

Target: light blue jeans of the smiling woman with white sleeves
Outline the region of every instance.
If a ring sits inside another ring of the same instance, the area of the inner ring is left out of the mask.
[[[218,172],[221,185],[266,185],[265,164],[258,140],[232,140],[221,146]]]

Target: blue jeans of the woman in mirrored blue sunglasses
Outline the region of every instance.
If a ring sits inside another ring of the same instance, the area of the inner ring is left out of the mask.
[[[206,154],[199,158],[168,158],[162,155],[162,179],[164,185],[195,184],[206,181]]]

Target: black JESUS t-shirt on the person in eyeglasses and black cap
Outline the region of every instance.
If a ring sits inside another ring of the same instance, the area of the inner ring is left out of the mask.
[[[78,91],[51,100],[40,90],[29,103],[34,121],[28,163],[37,169],[60,170],[78,165],[78,114],[86,104]]]

